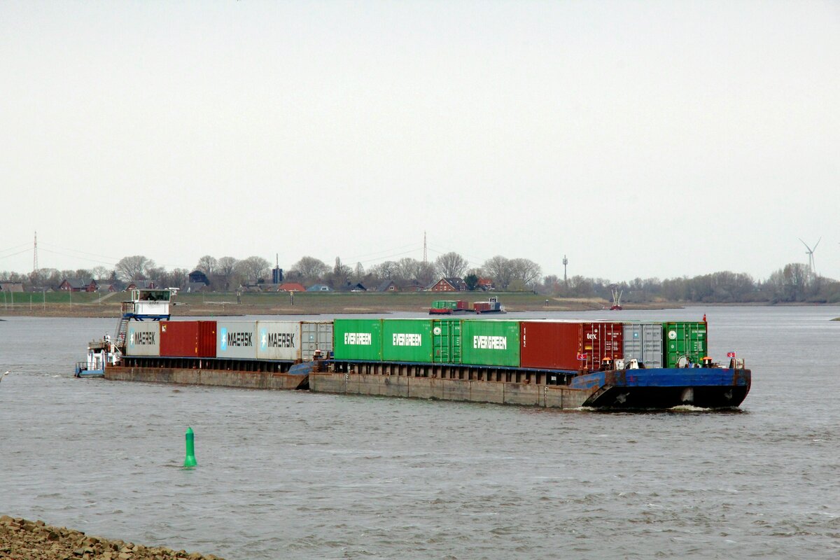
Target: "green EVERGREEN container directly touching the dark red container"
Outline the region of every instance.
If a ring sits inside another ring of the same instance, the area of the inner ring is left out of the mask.
[[[462,321],[463,364],[519,367],[518,321]]]

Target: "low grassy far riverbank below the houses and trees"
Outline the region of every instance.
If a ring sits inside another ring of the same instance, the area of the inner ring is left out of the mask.
[[[507,311],[591,311],[609,307],[601,299],[547,298],[529,292],[497,293]],[[100,297],[98,294],[49,292],[18,293],[14,301],[0,301],[0,316],[29,317],[119,317],[121,301],[128,294],[119,292]],[[207,317],[236,315],[326,315],[338,313],[387,313],[391,311],[428,311],[434,300],[464,299],[481,301],[486,293],[445,294],[412,293],[296,293],[285,292],[212,294],[179,294],[172,306],[173,317]],[[659,302],[627,309],[661,309],[679,305]]]

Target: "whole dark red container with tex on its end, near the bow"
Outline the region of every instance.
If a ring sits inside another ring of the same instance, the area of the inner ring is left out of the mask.
[[[620,322],[522,321],[519,329],[523,368],[592,370],[622,357]]]

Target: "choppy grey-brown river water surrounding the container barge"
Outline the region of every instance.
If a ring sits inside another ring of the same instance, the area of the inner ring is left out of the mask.
[[[527,316],[703,312],[753,370],[740,411],[74,379],[115,319],[8,318],[0,515],[233,559],[840,557],[840,308]]]

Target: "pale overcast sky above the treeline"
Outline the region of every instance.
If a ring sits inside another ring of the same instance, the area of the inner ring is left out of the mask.
[[[840,278],[840,3],[0,3],[0,270]]]

